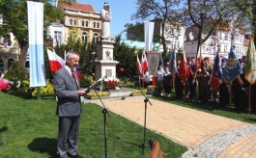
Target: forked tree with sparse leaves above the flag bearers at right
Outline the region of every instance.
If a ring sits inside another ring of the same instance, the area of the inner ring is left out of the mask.
[[[218,27],[228,28],[232,36],[236,29],[244,30],[241,27],[245,25],[244,13],[238,12],[235,4],[238,3],[228,0],[187,0],[185,13],[189,15],[188,24],[198,28],[197,49],[216,34]]]

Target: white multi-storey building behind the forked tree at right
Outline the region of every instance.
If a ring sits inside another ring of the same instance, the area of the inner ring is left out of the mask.
[[[191,26],[185,30],[185,54],[187,58],[196,57],[198,45],[198,28]],[[206,35],[202,35],[203,39]],[[202,57],[214,59],[215,53],[219,47],[219,55],[228,58],[231,45],[235,46],[235,54],[242,58],[246,54],[244,49],[244,33],[238,29],[231,31],[227,27],[218,27],[215,34],[211,35],[201,46]]]

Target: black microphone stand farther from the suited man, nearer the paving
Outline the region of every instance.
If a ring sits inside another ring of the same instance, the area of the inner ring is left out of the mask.
[[[128,74],[128,77],[131,79],[131,81],[132,81],[133,83],[135,83],[135,81],[131,78],[129,72],[128,72],[127,74]],[[142,145],[141,145],[141,147],[142,147],[142,154],[144,154],[144,150],[145,150],[145,148],[146,148],[146,146],[147,146],[147,145],[145,144],[145,142],[146,142],[146,124],[147,124],[147,106],[148,106],[148,102],[149,102],[151,105],[152,105],[152,103],[150,102],[149,97],[146,96],[146,94],[145,94],[144,92],[142,92],[141,89],[138,88],[138,86],[136,86],[136,87],[137,87],[137,89],[143,94],[143,96],[144,96],[144,103],[145,103],[145,112],[144,112],[144,133],[143,133],[143,143],[142,143]]]

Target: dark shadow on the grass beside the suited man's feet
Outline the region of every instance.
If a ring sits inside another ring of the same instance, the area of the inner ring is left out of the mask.
[[[58,157],[57,155],[57,140],[50,138],[36,138],[28,145],[31,151],[47,153],[51,158]]]

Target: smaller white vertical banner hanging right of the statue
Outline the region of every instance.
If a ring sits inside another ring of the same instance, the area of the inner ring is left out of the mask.
[[[145,38],[145,52],[152,51],[153,35],[154,35],[154,22],[144,22],[144,38]]]

